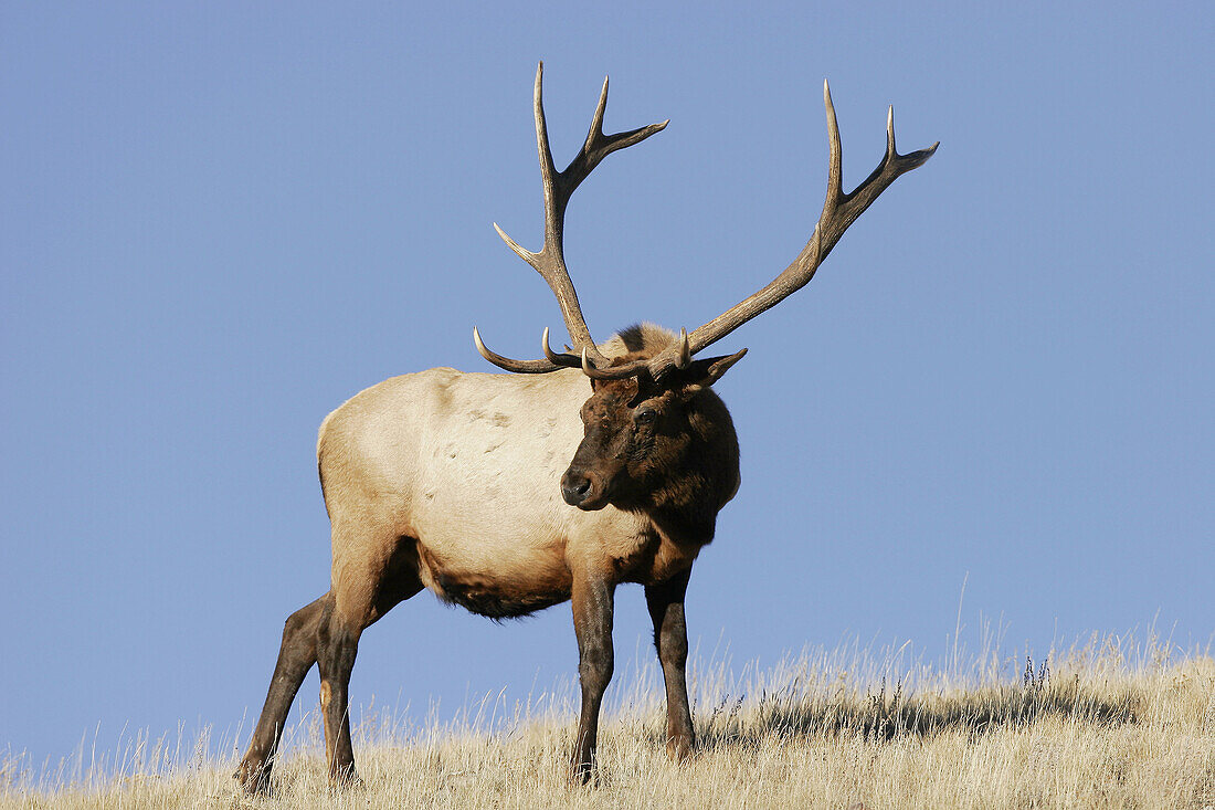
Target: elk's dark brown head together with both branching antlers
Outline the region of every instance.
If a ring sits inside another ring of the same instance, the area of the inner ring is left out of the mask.
[[[510,249],[548,282],[561,306],[575,348],[554,351],[546,328],[541,338],[543,359],[512,360],[486,348],[476,327],[473,327],[473,339],[486,360],[507,371],[547,373],[559,369],[581,369],[589,377],[592,394],[581,414],[584,435],[561,477],[561,496],[566,504],[582,510],[598,510],[608,504],[622,508],[686,508],[688,501],[694,499],[680,490],[697,485],[705,490],[707,484],[708,490],[718,490],[714,493],[714,500],[718,500],[716,512],[738,486],[738,444],[729,414],[710,386],[738,362],[746,349],[716,358],[694,359],[694,355],[804,287],[848,226],[899,175],[932,157],[938,144],[899,154],[894,148],[894,111],[891,108],[886,123],[886,154],[864,182],[844,193],[840,129],[831,92],[824,81],[823,100],[830,144],[826,199],[814,234],[798,257],[765,287],[690,334],[680,331],[676,338],[650,327],[651,333],[665,334],[655,339],[648,334],[646,327],[626,330],[618,337],[625,341],[628,353],[609,359],[590,338],[565,266],[565,208],[573,190],[608,154],[661,131],[668,122],[604,135],[603,117],[608,106],[608,80],[604,79],[586,142],[570,165],[564,171],[556,171],[544,123],[543,71],[542,62],[536,69],[533,107],[544,189],[544,246],[539,253],[532,253],[507,236],[497,224],[495,229]],[[733,469],[722,471],[722,460],[712,456],[728,455],[731,449],[733,463],[727,466]],[[724,474],[714,477],[714,469]],[[706,477],[713,480],[705,480]]]

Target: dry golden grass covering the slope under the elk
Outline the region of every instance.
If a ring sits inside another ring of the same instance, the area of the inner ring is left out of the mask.
[[[618,673],[594,788],[565,781],[565,688],[509,711],[487,699],[454,724],[372,715],[356,742],[366,784],[340,794],[305,718],[284,741],[271,799],[238,797],[234,744],[203,738],[193,755],[135,743],[91,774],[87,756],[38,774],[10,759],[0,806],[1215,808],[1209,656],[1111,639],[1022,666],[1010,679],[1011,663],[993,656],[960,671],[846,649],[738,677],[702,668],[700,750],[683,766],[662,752],[654,670]],[[216,748],[227,755],[202,753]]]

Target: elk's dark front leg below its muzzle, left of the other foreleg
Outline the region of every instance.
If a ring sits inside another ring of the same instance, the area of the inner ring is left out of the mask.
[[[614,652],[611,645],[612,596],[615,584],[606,578],[575,575],[573,631],[578,637],[578,681],[582,686],[582,713],[578,737],[573,746],[572,776],[589,782],[595,766],[595,741],[599,736],[599,707],[611,681]]]

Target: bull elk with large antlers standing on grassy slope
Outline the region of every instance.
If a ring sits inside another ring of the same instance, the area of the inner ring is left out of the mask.
[[[586,782],[612,675],[614,591],[621,583],[642,584],[666,681],[666,747],[676,759],[688,756],[695,735],[684,676],[684,594],[697,553],[713,539],[717,513],[739,488],[738,439],[712,386],[746,349],[696,355],[803,287],[870,203],[937,148],[899,154],[892,109],[885,157],[844,193],[840,131],[824,83],[826,201],[793,263],[690,333],[643,325],[597,344],[565,266],[565,209],[608,154],[667,122],[604,135],[605,79],[586,144],[558,171],[544,123],[543,67],[533,91],[543,247],[532,253],[495,229],[548,282],[572,348],[555,351],[546,328],[543,358],[513,360],[486,348],[474,327],[480,354],[512,373],[431,369],[394,377],[321,424],[317,463],[332,524],[330,589],[286,621],[265,707],[236,772],[249,792],[269,789],[283,724],[313,664],[321,673],[330,783],[357,781],[347,686],[360,637],[424,587],[495,619],[572,601],[582,709],[571,776]]]

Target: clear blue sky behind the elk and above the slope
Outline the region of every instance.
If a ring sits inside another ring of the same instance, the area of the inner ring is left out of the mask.
[[[248,730],[328,587],[324,415],[488,370],[474,324],[522,356],[560,328],[491,227],[539,244],[539,58],[561,165],[605,73],[610,131],[671,119],[570,207],[597,337],[699,326],[797,254],[824,78],[846,187],[889,103],[904,151],[942,142],[720,344],[751,349],[718,386],[744,483],[694,643],[936,659],[963,580],[963,637],[999,620],[1010,656],[1209,643],[1213,4],[520,5],[0,7],[0,752]],[[617,671],[648,635],[626,586]],[[497,626],[422,594],[352,697],[420,719],[576,658],[565,606]]]

